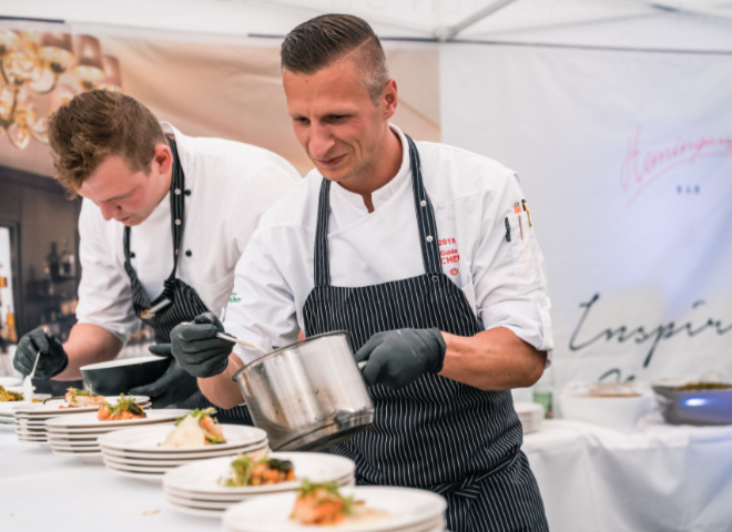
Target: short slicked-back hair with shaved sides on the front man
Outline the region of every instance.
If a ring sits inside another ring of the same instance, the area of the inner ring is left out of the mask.
[[[303,22],[285,37],[279,49],[279,64],[294,73],[314,74],[352,53],[376,105],[389,81],[389,70],[378,37],[368,22],[358,17],[322,14]]]

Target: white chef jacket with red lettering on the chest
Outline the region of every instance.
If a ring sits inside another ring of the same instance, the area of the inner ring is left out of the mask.
[[[392,127],[401,140],[401,166],[372,194],[373,213],[359,194],[337,184],[331,187],[333,286],[370,286],[425,273],[408,144],[398,127]],[[457,147],[416,144],[425,188],[435,208],[443,272],[462,290],[486,329],[506,327],[548,351],[550,359],[553,340],[543,257],[520,207],[525,196],[516,174]],[[303,306],[314,287],[322,180],[319,172],[311,171],[262,216],[252,235],[236,266],[224,323],[238,338],[276,349],[295,341],[304,329]],[[245,364],[260,355],[241,345],[234,352]]]

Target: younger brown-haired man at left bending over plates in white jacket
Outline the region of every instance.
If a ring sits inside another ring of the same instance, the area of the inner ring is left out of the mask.
[[[119,92],[75,96],[55,112],[49,135],[59,181],[84,197],[82,276],[68,341],[35,329],[19,342],[22,374],[41,351],[38,378],[78,379],[81,366],[114,358],[141,316],[161,344],[154,352],[170,355],[175,325],[221,313],[261,214],[301,181],[270,151],[186,136]],[[157,381],[131,391],[156,407],[203,406],[185,402],[195,379],[171,360]]]

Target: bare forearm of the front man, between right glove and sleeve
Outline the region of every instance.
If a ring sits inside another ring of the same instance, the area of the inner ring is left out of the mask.
[[[448,332],[443,337],[447,350],[439,375],[448,379],[481,390],[510,390],[532,386],[543,372],[547,354],[505,327],[472,337]]]

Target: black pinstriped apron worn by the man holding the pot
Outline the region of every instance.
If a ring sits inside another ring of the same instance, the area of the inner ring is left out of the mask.
[[[348,330],[358,349],[383,330],[437,327],[474,336],[482,329],[462,291],[443,274],[419,154],[411,139],[407,141],[425,274],[374,286],[331,286],[331,182],[323,180],[315,288],[303,309],[306,336]],[[481,391],[429,374],[397,390],[372,386],[369,395],[373,427],[332,449],[356,462],[359,484],[443,494],[453,532],[548,530],[539,489],[520,451],[521,424],[509,391]]]

